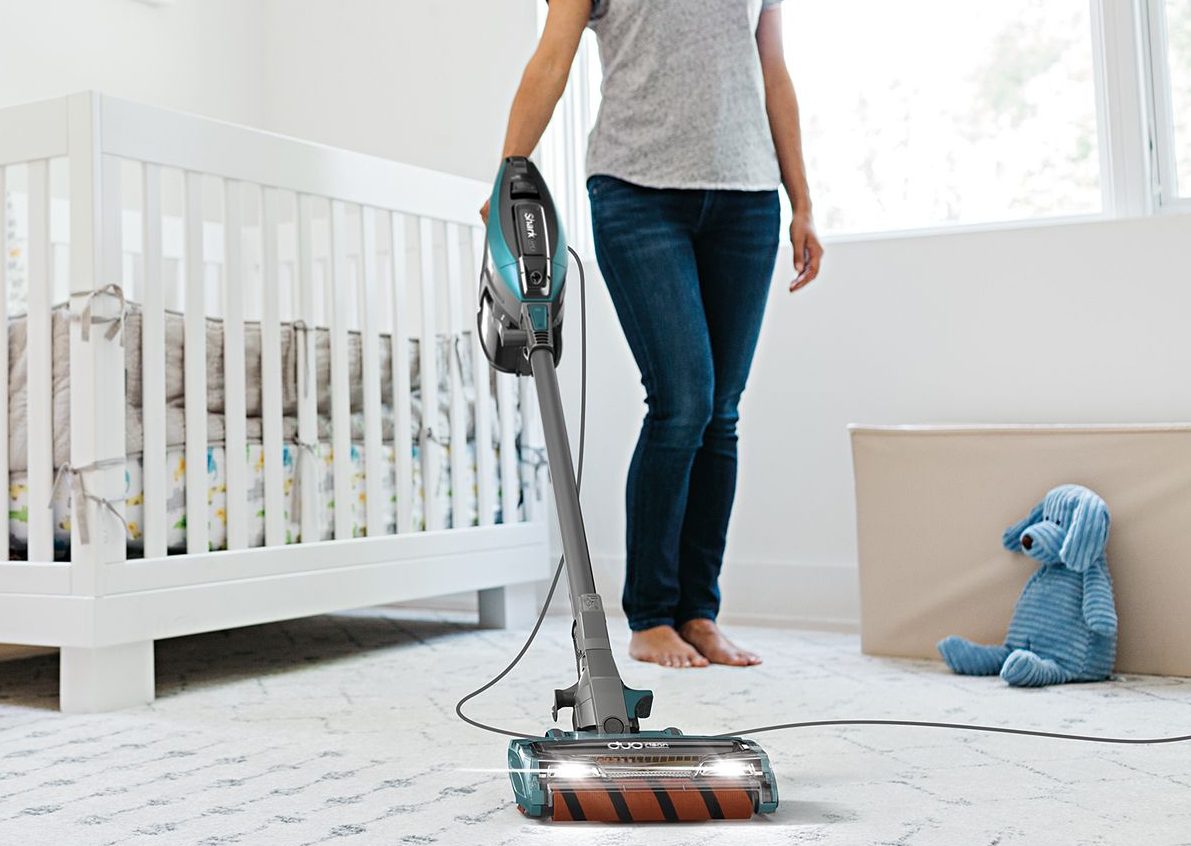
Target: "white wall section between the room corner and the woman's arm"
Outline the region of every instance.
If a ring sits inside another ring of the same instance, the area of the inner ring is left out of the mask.
[[[263,0],[263,125],[491,180],[535,0]]]

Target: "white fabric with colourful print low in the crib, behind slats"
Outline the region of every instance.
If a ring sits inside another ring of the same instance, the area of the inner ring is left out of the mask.
[[[303,449],[295,443],[282,446],[282,485],[285,491],[285,527],[286,543],[297,543],[301,536],[301,485],[308,479],[318,486],[319,540],[331,540],[335,521],[335,480],[332,473],[331,443],[319,442],[312,449],[313,456],[303,456]],[[314,461],[311,461],[311,458]],[[351,444],[351,534],[355,537],[368,533],[366,520],[367,497],[364,486],[364,448],[361,443]],[[439,462],[438,478],[425,491],[422,473],[419,448],[413,447],[413,530],[425,528],[424,494],[437,503],[439,514],[444,515],[444,527],[475,525],[479,522],[479,498],[475,477],[475,443],[467,444],[464,460],[466,475],[461,480],[466,494],[463,514],[453,514],[453,479],[450,461],[443,456]],[[264,449],[260,443],[250,443],[247,448],[249,467],[248,479],[248,546],[264,546]],[[295,462],[305,461],[305,466],[295,472]],[[381,534],[397,533],[397,490],[395,490],[395,453],[393,444],[384,443],[381,454],[381,496],[385,498],[385,525]],[[495,462],[499,467],[499,455]],[[186,456],[181,447],[167,450],[167,547],[170,553],[186,552]],[[497,491],[495,504],[490,515],[492,521],[504,521],[501,512],[501,491],[498,472],[491,478]],[[131,455],[125,465],[124,512],[127,522],[129,556],[138,558],[144,550],[144,474],[141,456]],[[515,481],[518,486],[519,480]],[[518,497],[520,499],[520,497]],[[17,471],[8,477],[8,539],[13,556],[19,559],[29,542],[29,510],[37,508],[29,502],[29,486],[24,471]],[[40,505],[45,508],[45,505]],[[70,492],[68,485],[61,485],[54,496],[54,553],[58,560],[69,559],[70,552]],[[512,520],[522,518],[522,506]],[[107,517],[105,517],[106,520]],[[227,453],[223,444],[207,447],[207,537],[210,548],[227,548]]]

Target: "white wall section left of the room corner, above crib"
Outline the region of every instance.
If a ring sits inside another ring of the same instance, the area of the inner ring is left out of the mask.
[[[95,89],[256,124],[257,0],[0,0],[0,106]]]

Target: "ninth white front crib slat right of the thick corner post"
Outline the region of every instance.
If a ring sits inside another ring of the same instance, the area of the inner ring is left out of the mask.
[[[422,344],[419,347],[422,385],[422,490],[425,497],[426,529],[445,528],[447,516],[438,502],[442,471],[442,449],[436,440],[448,433],[439,431],[438,422],[438,328],[435,300],[434,222],[419,219],[419,257],[422,260]]]

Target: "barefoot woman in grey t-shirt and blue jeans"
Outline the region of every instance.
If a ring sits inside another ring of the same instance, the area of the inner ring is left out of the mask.
[[[716,616],[779,183],[793,209],[790,291],[823,256],[780,2],[554,0],[505,138],[505,156],[534,151],[591,26],[604,67],[587,157],[596,255],[648,408],[626,485],[629,653],[669,667],[761,660]]]

